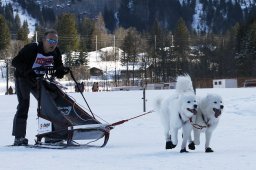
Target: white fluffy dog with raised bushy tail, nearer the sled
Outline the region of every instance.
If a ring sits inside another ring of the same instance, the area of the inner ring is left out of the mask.
[[[192,131],[190,118],[196,114],[197,101],[190,76],[179,76],[176,93],[157,101],[157,110],[164,127],[166,149],[175,148],[178,143],[178,130],[183,130],[180,152],[187,152],[186,145]]]

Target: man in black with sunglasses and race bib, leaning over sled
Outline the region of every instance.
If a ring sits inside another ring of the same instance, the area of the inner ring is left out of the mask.
[[[30,92],[36,97],[36,77],[44,74],[36,70],[42,66],[53,66],[56,77],[62,78],[68,73],[63,66],[61,53],[57,47],[58,34],[55,30],[48,30],[39,43],[24,46],[12,60],[15,69],[15,88],[18,98],[17,112],[13,120],[12,135],[15,136],[14,145],[27,145],[26,136],[27,117],[30,103]]]

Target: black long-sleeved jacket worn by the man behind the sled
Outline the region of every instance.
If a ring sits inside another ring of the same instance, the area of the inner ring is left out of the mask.
[[[45,56],[53,56],[53,65],[54,68],[60,68],[63,67],[62,59],[61,59],[61,53],[59,49],[56,47],[55,50],[51,53],[44,53],[43,50],[43,43],[30,43],[25,45],[18,55],[14,57],[12,60],[12,66],[14,66],[15,69],[15,77],[24,77],[24,78],[34,78],[33,75],[30,73],[32,72],[32,66],[35,62],[37,53],[41,53]]]

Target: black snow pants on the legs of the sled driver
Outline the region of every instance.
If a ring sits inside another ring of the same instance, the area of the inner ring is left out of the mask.
[[[17,112],[13,119],[12,135],[19,138],[26,136],[30,92],[36,97],[36,82],[32,83],[22,77],[15,78],[15,90],[18,98]]]

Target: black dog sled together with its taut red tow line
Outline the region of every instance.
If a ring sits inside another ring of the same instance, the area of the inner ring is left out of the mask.
[[[64,87],[55,81],[56,70],[53,67],[40,67],[37,69],[38,71],[43,70],[45,74],[36,78],[37,91],[32,91],[38,101],[38,134],[36,135],[35,145],[27,146],[29,148],[104,147],[108,143],[110,130],[115,126],[154,112],[154,110],[150,110],[112,124],[106,121],[102,123],[95,118],[95,114],[90,109],[71,70],[69,70],[69,73],[88,109],[78,105],[73,98],[62,90]],[[100,117],[97,116],[97,118]],[[104,121],[102,118],[100,119]],[[45,141],[50,139],[53,141],[65,141],[65,143],[59,146],[50,145],[43,142],[43,138]],[[90,145],[90,143],[96,142],[99,139],[103,139],[101,145]],[[78,140],[87,141],[87,143],[80,144],[77,142]]]

